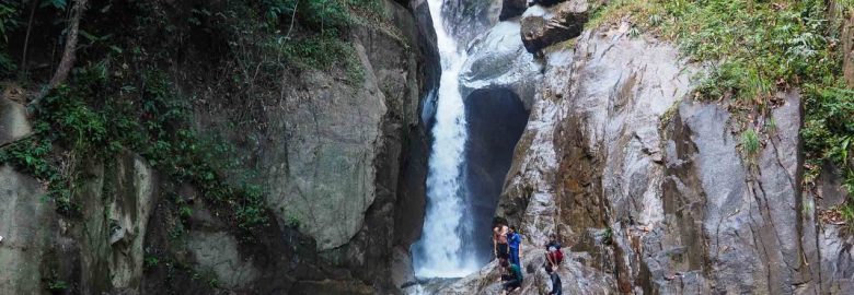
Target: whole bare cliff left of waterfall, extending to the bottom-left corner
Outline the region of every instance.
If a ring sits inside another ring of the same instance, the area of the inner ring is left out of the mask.
[[[302,69],[276,78],[288,87],[235,102],[205,72],[209,59],[172,66],[196,129],[233,142],[265,184],[274,219],[263,233],[247,239],[231,213],[131,153],[82,161],[78,217],[3,167],[0,261],[14,270],[0,273],[0,293],[394,293],[392,264],[407,263],[422,226],[438,56],[426,2],[382,3],[390,26],[350,33],[363,83]],[[7,142],[28,127],[2,99]]]

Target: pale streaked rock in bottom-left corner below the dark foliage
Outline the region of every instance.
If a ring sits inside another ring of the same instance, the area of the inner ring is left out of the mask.
[[[72,200],[84,221],[39,201],[45,191],[38,180],[0,169],[0,262],[9,270],[0,272],[0,293],[37,294],[62,281],[81,294],[139,294],[157,175],[130,154],[81,165],[89,181]]]

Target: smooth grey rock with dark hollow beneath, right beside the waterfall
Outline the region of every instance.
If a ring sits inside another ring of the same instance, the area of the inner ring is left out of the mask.
[[[463,66],[461,94],[469,122],[468,204],[473,210],[466,244],[483,262],[492,256],[488,233],[513,148],[524,130],[541,66],[524,51],[518,21],[493,26],[475,37]]]

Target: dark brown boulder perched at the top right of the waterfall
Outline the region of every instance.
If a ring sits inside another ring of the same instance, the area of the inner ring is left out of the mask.
[[[575,38],[587,22],[588,0],[569,0],[555,8],[535,7],[522,15],[522,43],[528,52]]]

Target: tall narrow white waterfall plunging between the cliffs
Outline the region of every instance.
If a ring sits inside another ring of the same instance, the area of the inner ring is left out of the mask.
[[[442,72],[427,176],[427,215],[415,245],[414,267],[419,278],[462,278],[478,269],[473,257],[462,251],[466,205],[461,179],[468,134],[459,79],[468,55],[445,28],[442,0],[428,0],[428,4]]]

